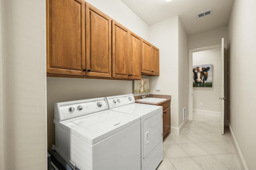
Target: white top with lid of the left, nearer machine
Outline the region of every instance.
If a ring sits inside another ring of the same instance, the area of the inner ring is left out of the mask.
[[[140,121],[136,115],[105,110],[54,123],[90,145]],[[140,130],[140,129],[138,129]]]

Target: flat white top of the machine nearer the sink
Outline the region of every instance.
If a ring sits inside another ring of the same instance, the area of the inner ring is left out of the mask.
[[[132,114],[132,115],[138,115],[141,117],[141,119],[144,119],[145,117],[148,117],[150,115],[158,113],[159,111],[162,111],[163,107],[149,105],[149,104],[133,103],[133,104],[129,104],[126,106],[112,108],[111,110],[119,111],[122,113],[128,113],[128,114]]]

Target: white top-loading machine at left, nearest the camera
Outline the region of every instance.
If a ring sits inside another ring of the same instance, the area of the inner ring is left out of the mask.
[[[105,98],[55,104],[55,145],[80,170],[140,170],[140,117]]]

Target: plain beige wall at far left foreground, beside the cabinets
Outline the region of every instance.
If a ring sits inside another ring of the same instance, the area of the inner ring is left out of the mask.
[[[47,169],[45,1],[0,0],[0,169]]]

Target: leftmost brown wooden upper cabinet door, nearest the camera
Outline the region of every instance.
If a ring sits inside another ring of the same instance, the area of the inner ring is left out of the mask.
[[[47,73],[84,74],[84,14],[83,0],[46,0]]]

